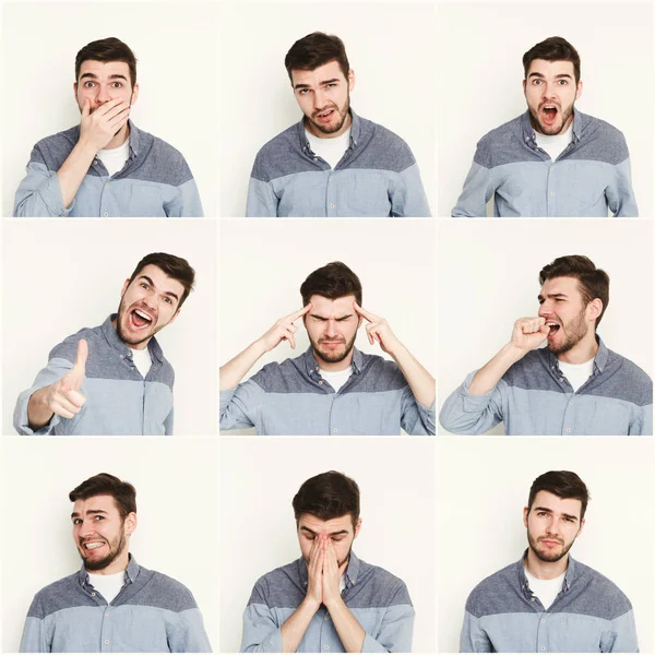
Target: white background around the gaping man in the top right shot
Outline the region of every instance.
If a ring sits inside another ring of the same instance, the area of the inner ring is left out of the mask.
[[[526,110],[523,53],[549,36],[577,50],[583,93],[575,106],[623,132],[640,215],[653,215],[651,2],[449,2],[437,14],[439,216],[451,215],[476,143]]]

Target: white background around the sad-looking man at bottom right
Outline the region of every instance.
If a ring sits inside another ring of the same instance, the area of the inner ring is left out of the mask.
[[[655,651],[652,439],[448,437],[437,453],[437,525],[448,526],[438,539],[440,652],[460,651],[473,588],[527,548],[523,508],[548,471],[573,471],[587,486],[586,524],[571,555],[630,598],[640,651]]]

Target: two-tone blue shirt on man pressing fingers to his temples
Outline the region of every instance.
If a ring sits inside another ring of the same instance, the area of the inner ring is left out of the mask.
[[[436,405],[416,401],[394,361],[353,349],[353,373],[335,392],[311,347],[300,357],[267,364],[235,389],[221,392],[221,429],[258,434],[434,434]]]

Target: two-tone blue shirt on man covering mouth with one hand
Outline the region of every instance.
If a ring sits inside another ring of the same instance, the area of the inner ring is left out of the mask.
[[[181,153],[132,121],[129,126],[123,168],[110,176],[94,158],[68,209],[57,171],[80,140],[80,126],[39,141],[16,191],[14,216],[202,216],[198,187]]]

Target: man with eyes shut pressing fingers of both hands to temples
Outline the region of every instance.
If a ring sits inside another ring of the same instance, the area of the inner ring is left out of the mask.
[[[258,434],[434,433],[434,378],[397,340],[384,319],[361,307],[361,283],[348,266],[332,262],[300,287],[303,308],[279,319],[221,368],[221,429],[255,427]],[[257,360],[288,341],[302,318],[308,350],[269,364],[239,384]],[[355,348],[367,321],[394,361]]]

